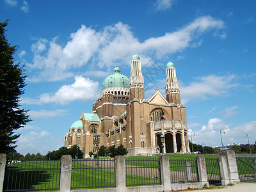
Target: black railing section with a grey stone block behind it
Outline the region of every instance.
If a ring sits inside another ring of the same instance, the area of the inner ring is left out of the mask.
[[[198,182],[197,165],[194,159],[170,159],[172,183]]]

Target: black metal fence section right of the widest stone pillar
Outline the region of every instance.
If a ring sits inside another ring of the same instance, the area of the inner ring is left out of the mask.
[[[241,182],[256,180],[256,158],[236,157],[237,170]]]

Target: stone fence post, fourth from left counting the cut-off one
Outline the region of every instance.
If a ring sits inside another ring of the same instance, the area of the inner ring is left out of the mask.
[[[170,163],[169,158],[166,156],[160,156],[160,175],[164,191],[171,191],[171,176],[170,176]]]

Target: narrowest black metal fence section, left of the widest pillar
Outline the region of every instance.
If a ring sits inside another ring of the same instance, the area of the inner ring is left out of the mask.
[[[209,184],[221,185],[220,160],[218,158],[205,158],[205,165]]]

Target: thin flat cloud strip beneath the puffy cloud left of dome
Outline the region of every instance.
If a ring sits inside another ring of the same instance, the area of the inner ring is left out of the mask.
[[[68,114],[67,109],[56,109],[55,111],[28,111],[30,118],[49,118],[52,116],[65,116]]]

